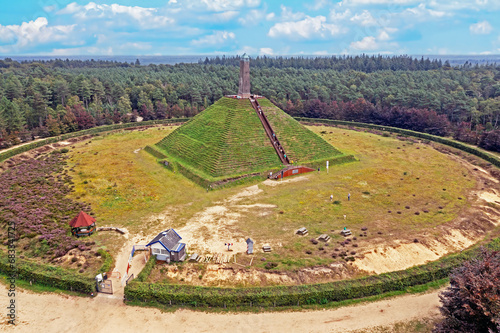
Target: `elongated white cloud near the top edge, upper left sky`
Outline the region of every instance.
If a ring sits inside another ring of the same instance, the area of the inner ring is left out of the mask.
[[[129,25],[130,20],[132,20],[143,29],[157,29],[174,22],[172,18],[158,14],[156,8],[118,4],[101,5],[95,2],[89,2],[85,6],[73,2],[58,11],[57,14],[72,14],[74,18],[79,20],[106,19],[107,23],[112,25]]]

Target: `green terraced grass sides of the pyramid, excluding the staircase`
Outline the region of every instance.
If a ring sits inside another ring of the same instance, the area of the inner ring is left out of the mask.
[[[291,160],[304,164],[343,156],[267,99],[259,103]],[[207,181],[282,167],[248,99],[221,98],[153,148]]]

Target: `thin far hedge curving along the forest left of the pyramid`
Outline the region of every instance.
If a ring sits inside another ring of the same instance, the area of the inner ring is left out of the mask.
[[[78,137],[78,136],[93,135],[93,134],[98,134],[98,133],[102,133],[102,132],[109,132],[109,131],[114,131],[114,130],[119,130],[119,129],[151,126],[151,125],[157,125],[157,124],[182,123],[182,122],[185,122],[186,120],[188,120],[188,119],[186,119],[186,118],[174,118],[174,119],[148,120],[148,121],[143,121],[140,123],[125,123],[125,124],[105,125],[105,126],[93,127],[93,128],[78,131],[78,132],[66,133],[63,135],[54,136],[54,137],[42,139],[40,141],[28,143],[26,145],[7,150],[3,153],[0,152],[0,162],[6,160],[8,158],[11,158],[12,156],[27,152],[31,149],[39,148],[39,147],[42,147],[42,146],[45,146],[45,145],[48,145],[51,143],[64,141],[64,140]]]

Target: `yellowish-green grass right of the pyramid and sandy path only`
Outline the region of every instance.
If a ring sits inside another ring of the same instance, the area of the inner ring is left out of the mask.
[[[368,227],[369,237],[359,240],[362,249],[374,238],[378,243],[390,243],[393,239],[412,240],[412,234],[423,231],[432,235],[434,227],[457,218],[469,206],[465,198],[476,182],[472,175],[464,177],[467,171],[445,154],[425,145],[365,132],[323,126],[310,128],[318,134],[327,131],[323,135],[327,141],[341,151],[354,154],[359,162],[331,167],[328,174],[323,168],[320,173],[307,174],[307,181],[286,186],[261,185],[263,193],[244,202],[277,206],[269,215],[241,219],[235,232],[253,235],[260,244],[281,242],[283,247],[274,247],[273,255],[263,255],[281,263],[278,269],[294,270],[303,267],[304,262],[312,266],[333,261],[330,255],[338,246],[339,232],[344,226],[355,236],[359,236],[361,227]],[[332,194],[335,204],[330,201]],[[281,211],[283,214],[279,214]],[[306,237],[293,236],[300,227],[309,230]],[[309,242],[322,233],[333,236],[333,244],[326,253],[319,251],[321,244]],[[263,267],[264,263],[258,262],[257,266]]]

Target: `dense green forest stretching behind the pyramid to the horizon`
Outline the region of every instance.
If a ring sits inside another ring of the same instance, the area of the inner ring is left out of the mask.
[[[191,117],[238,91],[239,57],[142,66],[0,60],[0,148],[120,122]],[[500,151],[500,66],[409,56],[256,57],[252,92],[292,116],[359,121]]]

